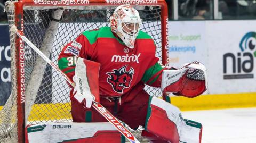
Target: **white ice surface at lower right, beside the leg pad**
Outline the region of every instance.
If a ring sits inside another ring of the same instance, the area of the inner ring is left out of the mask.
[[[202,123],[202,143],[256,142],[256,108],[182,113],[184,119]]]

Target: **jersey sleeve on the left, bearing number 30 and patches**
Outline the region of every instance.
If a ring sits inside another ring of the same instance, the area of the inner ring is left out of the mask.
[[[92,52],[93,46],[87,37],[81,34],[74,41],[63,47],[58,58],[58,66],[70,79],[73,79],[77,57],[90,60]]]

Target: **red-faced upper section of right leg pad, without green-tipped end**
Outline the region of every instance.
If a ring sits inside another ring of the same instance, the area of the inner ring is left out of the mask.
[[[150,97],[145,129],[163,140],[179,143],[180,110],[157,97]]]

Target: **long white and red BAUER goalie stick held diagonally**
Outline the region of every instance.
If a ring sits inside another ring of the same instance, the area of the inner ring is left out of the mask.
[[[41,56],[48,64],[50,64],[52,66],[52,68],[54,70],[56,70],[57,72],[59,72],[63,78],[68,81],[68,83],[70,83],[70,85],[72,85],[73,87],[75,87],[75,83],[70,80],[67,75],[65,73],[63,73],[57,65],[55,65],[47,56],[45,56],[44,53],[42,53],[33,43],[31,43],[31,41],[23,36],[19,30],[16,28],[16,26],[12,26],[10,28],[11,31],[15,32],[23,41],[25,41],[31,48],[34,49],[34,51],[39,55]],[[123,136],[125,136],[125,138],[127,140],[129,140],[130,142],[132,143],[139,143],[138,139],[135,138],[135,136],[133,136],[133,134],[127,130],[124,125],[119,122],[115,116],[113,116],[105,107],[103,107],[100,103],[98,102],[93,102],[93,105],[92,105],[95,110],[97,110],[102,116],[105,117],[105,119],[107,119],[111,124],[114,125],[114,127],[123,134]]]

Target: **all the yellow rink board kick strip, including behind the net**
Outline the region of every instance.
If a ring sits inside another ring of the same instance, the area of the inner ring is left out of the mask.
[[[193,111],[193,110],[211,110],[211,109],[221,109],[221,108],[245,108],[245,107],[256,107],[256,93],[241,93],[241,94],[219,94],[219,95],[204,95],[198,96],[195,98],[186,98],[182,96],[172,96],[171,103],[180,108],[181,111]],[[62,106],[67,106],[65,103]],[[46,106],[52,106],[52,104],[37,104],[33,106],[33,112],[38,113],[40,108]],[[29,119],[33,120],[43,120],[46,117],[54,120],[60,117],[62,114],[62,118],[71,119],[70,110],[63,113],[60,108],[55,108],[55,110],[51,110],[49,112],[45,112],[42,114],[33,114],[29,116]],[[71,109],[71,107],[70,107]],[[2,106],[0,107],[2,110]],[[58,116],[53,116],[54,114],[58,114]]]

